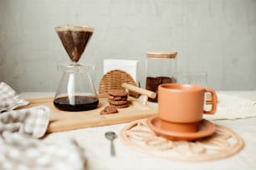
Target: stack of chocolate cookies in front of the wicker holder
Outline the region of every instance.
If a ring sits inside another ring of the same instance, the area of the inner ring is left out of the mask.
[[[128,92],[125,89],[111,89],[109,90],[109,103],[117,108],[128,107],[127,97]]]

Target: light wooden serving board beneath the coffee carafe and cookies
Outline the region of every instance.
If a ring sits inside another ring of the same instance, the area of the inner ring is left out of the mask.
[[[27,99],[30,104],[26,107],[44,105],[50,108],[50,120],[47,133],[56,133],[79,128],[100,127],[105,125],[132,122],[156,114],[157,107],[142,104],[139,99],[128,97],[129,107],[118,108],[117,113],[100,115],[100,111],[109,105],[107,97],[100,97],[99,106],[90,111],[66,112],[54,107],[54,98]]]

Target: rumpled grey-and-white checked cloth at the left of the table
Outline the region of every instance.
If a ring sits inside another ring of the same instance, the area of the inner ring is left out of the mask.
[[[50,109],[18,109],[28,103],[12,87],[0,82],[0,169],[85,169],[83,149],[73,139],[56,143],[39,139],[48,128]]]

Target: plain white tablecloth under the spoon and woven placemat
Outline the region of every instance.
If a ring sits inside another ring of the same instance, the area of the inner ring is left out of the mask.
[[[256,102],[256,91],[224,92],[246,97]],[[52,92],[23,92],[23,98],[49,97]],[[256,117],[238,120],[218,120],[214,123],[232,129],[243,138],[244,148],[235,155],[214,161],[190,163],[175,161],[165,158],[157,158],[146,153],[140,153],[129,148],[121,141],[115,139],[116,157],[110,157],[110,141],[105,139],[105,132],[114,131],[120,134],[127,123],[111,125],[99,128],[84,128],[63,133],[51,133],[42,140],[64,141],[67,138],[75,138],[84,148],[88,158],[88,168],[93,170],[120,170],[120,169],[184,169],[184,170],[216,170],[216,169],[256,169]]]

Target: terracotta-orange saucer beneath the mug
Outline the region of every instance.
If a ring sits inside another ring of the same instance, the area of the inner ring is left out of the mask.
[[[196,133],[178,133],[161,129],[161,119],[158,116],[149,117],[146,121],[148,128],[157,135],[178,141],[192,141],[198,138],[205,138],[215,132],[215,125],[205,119],[199,122],[199,130]]]

